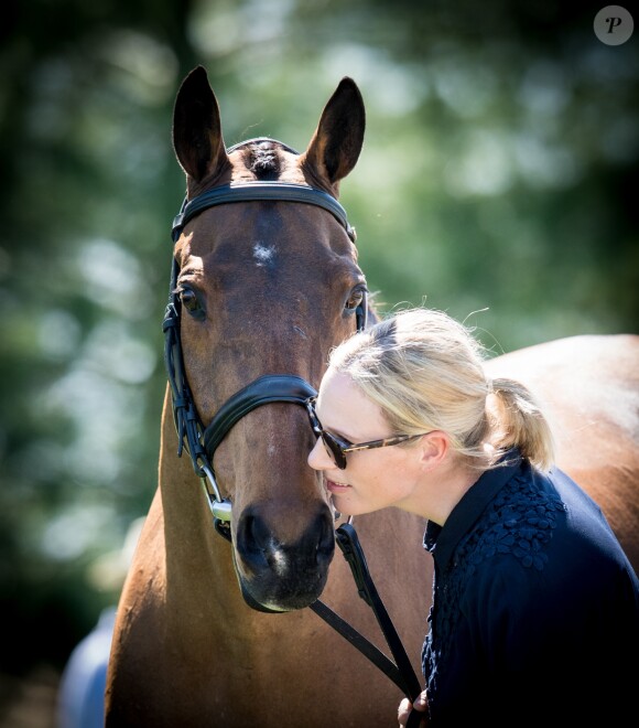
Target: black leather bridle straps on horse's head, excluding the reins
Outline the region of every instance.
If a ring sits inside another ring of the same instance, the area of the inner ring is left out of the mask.
[[[227,150],[231,152],[240,146],[256,141],[273,141],[272,139],[250,139]],[[281,142],[278,142],[281,143]],[[295,150],[282,144],[293,153]],[[322,190],[293,184],[289,182],[242,182],[225,184],[203,192],[193,200],[184,200],[180,213],[173,221],[172,238],[176,243],[188,221],[209,207],[232,204],[236,202],[299,202],[315,205],[329,212],[344,227],[348,237],[355,242],[355,229],[349,225],[344,207]],[[177,454],[186,450],[191,456],[193,469],[202,480],[207,495],[216,528],[228,537],[228,523],[231,517],[231,503],[223,499],[215,471],[213,458],[215,451],[230,429],[245,415],[257,407],[273,402],[292,403],[305,406],[308,397],[317,393],[305,379],[294,374],[264,374],[230,397],[215,414],[208,426],[202,424],[193,400],[191,388],[184,371],[184,358],[180,339],[180,320],[182,306],[176,292],[180,265],[175,258],[171,268],[171,287],[169,304],[164,313],[162,330],[164,332],[164,364],[171,387],[173,404],[173,420],[177,430]],[[356,311],[357,330],[366,326],[366,295]]]

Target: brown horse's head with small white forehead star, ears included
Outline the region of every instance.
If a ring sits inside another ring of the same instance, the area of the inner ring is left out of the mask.
[[[227,149],[202,67],[175,101],[173,146],[186,175],[172,282],[181,366],[215,471],[207,474],[232,504],[242,595],[264,611],[315,601],[334,555],[334,512],[306,464],[314,436],[297,405],[318,386],[331,347],[356,330],[366,307],[355,234],[336,202],[364,128],[361,96],[349,78],[301,154],[268,138]],[[243,407],[263,394],[264,377],[267,389],[277,377],[294,379],[302,395]],[[226,417],[247,385],[243,405]],[[174,406],[175,399],[181,393]],[[230,421],[212,435],[212,422],[225,418]]]

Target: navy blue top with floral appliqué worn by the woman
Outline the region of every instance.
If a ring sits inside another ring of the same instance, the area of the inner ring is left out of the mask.
[[[637,706],[639,581],[596,503],[511,451],[430,522],[429,726],[621,726]]]

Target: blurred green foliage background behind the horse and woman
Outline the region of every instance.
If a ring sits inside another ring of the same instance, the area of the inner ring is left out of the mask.
[[[155,488],[186,73],[206,66],[227,144],[300,150],[357,82],[342,201],[382,310],[425,300],[496,352],[636,332],[639,41],[597,40],[604,4],[4,3],[0,673],[64,665],[118,596],[96,566]]]

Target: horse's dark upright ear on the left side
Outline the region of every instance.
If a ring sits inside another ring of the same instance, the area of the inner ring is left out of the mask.
[[[173,149],[182,169],[196,182],[229,162],[221,136],[219,106],[203,66],[182,82],[173,110]]]

